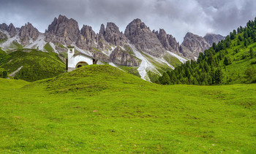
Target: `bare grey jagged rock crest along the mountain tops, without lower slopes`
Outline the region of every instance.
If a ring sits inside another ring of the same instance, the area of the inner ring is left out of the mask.
[[[9,26],[2,23],[0,24],[0,30],[7,31],[10,37],[15,36],[18,31],[22,45],[28,45],[30,39],[35,40],[39,35],[39,31],[31,23],[27,23],[19,29],[15,28],[12,23]],[[224,36],[217,34],[206,34],[202,37],[187,33],[184,36],[184,41],[179,45],[176,38],[167,34],[164,29],[151,31],[140,19],[132,20],[124,34],[119,31],[115,23],[107,23],[106,28],[102,24],[99,33],[96,34],[91,26],[83,26],[79,29],[76,20],[69,19],[64,15],[54,18],[48,29],[45,30],[44,35],[45,42],[53,42],[57,45],[76,45],[82,50],[94,50],[96,48],[99,52],[108,51],[110,53],[110,50],[113,50],[112,47],[122,47],[130,42],[135,45],[137,50],[157,58],[165,55],[165,50],[169,50],[190,59],[195,59],[200,52],[211,47],[213,42],[225,39]],[[4,38],[4,34],[1,34],[0,39]],[[102,54],[97,53],[96,55],[101,57]]]

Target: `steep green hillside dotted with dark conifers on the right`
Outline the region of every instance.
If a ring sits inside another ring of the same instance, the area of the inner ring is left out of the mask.
[[[239,27],[225,40],[159,77],[168,84],[221,85],[256,82],[256,20]]]

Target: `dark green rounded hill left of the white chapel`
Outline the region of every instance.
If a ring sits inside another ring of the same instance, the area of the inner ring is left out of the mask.
[[[42,80],[64,73],[65,64],[56,53],[45,53],[39,50],[23,49],[9,54],[0,54],[0,69],[8,74],[15,72],[15,79],[29,82]]]

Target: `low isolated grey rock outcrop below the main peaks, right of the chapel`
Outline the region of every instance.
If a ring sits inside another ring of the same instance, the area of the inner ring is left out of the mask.
[[[124,66],[139,66],[141,61],[128,51],[122,50],[121,47],[116,47],[110,54],[110,59],[113,63]]]

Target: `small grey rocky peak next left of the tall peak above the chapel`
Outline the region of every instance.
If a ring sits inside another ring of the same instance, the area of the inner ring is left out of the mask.
[[[28,45],[30,39],[36,40],[38,38],[39,31],[31,23],[27,23],[20,28],[19,36],[21,44]]]

